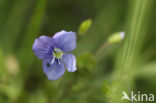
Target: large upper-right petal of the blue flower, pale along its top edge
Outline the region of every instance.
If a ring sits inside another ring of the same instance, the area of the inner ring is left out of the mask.
[[[76,33],[62,30],[54,35],[55,45],[63,52],[70,52],[76,48]]]

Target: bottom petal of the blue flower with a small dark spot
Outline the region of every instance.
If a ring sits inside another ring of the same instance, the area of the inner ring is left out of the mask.
[[[42,66],[44,73],[47,75],[48,79],[53,81],[57,80],[64,74],[65,67],[61,60],[58,62],[58,60],[55,59],[53,64],[51,64],[51,61],[52,59],[44,60]]]

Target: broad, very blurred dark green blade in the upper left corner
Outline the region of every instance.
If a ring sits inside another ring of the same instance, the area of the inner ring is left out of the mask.
[[[15,47],[16,40],[18,40],[24,24],[24,20],[26,20],[26,12],[29,5],[30,3],[26,0],[20,0],[19,2],[13,3],[11,12],[4,24],[4,27],[2,27],[3,30],[1,32],[2,35],[5,35],[1,37],[1,41],[4,44],[3,47],[7,51],[12,51]]]

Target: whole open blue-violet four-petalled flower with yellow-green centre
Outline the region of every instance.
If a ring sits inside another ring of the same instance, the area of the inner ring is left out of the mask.
[[[71,52],[76,48],[76,33],[64,30],[53,37],[40,36],[33,44],[35,55],[43,60],[44,73],[49,80],[60,78],[65,67],[68,72],[76,71],[76,58]]]

